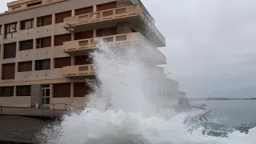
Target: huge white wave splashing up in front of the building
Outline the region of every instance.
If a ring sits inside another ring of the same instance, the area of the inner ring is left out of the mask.
[[[94,86],[87,109],[43,130],[57,144],[255,144],[256,129],[234,131],[225,138],[203,134],[184,124],[186,114],[160,113],[154,106],[157,70],[146,66],[148,48],[100,45],[94,64],[101,86]],[[161,82],[161,81],[160,81]],[[172,117],[168,117],[172,116]],[[175,115],[175,116],[174,116]]]

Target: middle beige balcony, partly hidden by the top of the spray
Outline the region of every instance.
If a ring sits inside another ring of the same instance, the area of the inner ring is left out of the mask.
[[[166,56],[157,48],[151,46],[150,42],[140,33],[116,34],[97,38],[105,42],[106,46],[130,46],[130,49],[146,49],[152,52],[148,55],[148,62],[154,65],[166,64]],[[77,41],[64,42],[64,52],[70,55],[89,54],[97,48],[96,38],[88,38]]]

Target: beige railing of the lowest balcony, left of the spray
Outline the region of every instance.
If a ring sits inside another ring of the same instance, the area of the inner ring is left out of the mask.
[[[63,67],[63,71],[63,77],[65,78],[95,74],[94,65],[66,66]]]

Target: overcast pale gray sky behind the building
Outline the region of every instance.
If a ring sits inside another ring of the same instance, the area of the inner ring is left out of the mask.
[[[189,97],[256,97],[255,0],[142,2],[166,37],[166,71]]]

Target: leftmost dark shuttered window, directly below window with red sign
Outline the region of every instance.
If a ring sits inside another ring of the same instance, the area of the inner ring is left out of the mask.
[[[3,45],[3,58],[15,58],[16,57],[16,42]]]

